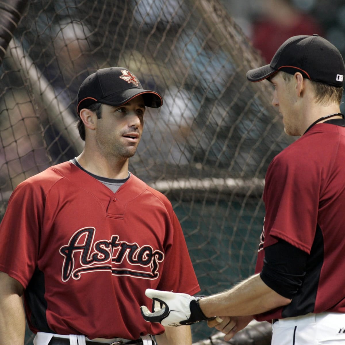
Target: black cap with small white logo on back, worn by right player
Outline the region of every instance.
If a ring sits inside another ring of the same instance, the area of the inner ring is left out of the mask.
[[[269,65],[247,72],[249,81],[261,81],[277,71],[301,72],[304,78],[333,86],[344,85],[344,60],[339,50],[318,34],[293,36],[276,51]]]

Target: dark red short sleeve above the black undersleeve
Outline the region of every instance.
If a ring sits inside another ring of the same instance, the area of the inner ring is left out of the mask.
[[[284,151],[283,151],[284,152]],[[283,239],[310,253],[316,231],[319,169],[296,152],[278,155],[266,174],[264,247]]]

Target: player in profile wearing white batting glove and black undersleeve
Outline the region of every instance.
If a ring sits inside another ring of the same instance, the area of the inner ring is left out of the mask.
[[[285,132],[300,136],[267,170],[256,274],[201,299],[149,289],[164,307],[142,306],[147,321],[209,320],[228,340],[254,317],[272,322],[274,345],[345,344],[344,74],[340,52],[317,34],[289,38],[247,72],[272,83]]]

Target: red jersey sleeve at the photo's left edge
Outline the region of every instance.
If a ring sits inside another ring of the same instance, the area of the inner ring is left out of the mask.
[[[20,184],[0,224],[0,270],[27,287],[38,257],[42,202],[40,189]]]

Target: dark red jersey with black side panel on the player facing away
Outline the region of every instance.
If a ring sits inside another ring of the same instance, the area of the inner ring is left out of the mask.
[[[283,239],[309,254],[292,302],[258,321],[307,313],[345,313],[345,127],[317,124],[271,162],[256,273],[264,248]],[[283,253],[282,253],[283,255]]]

